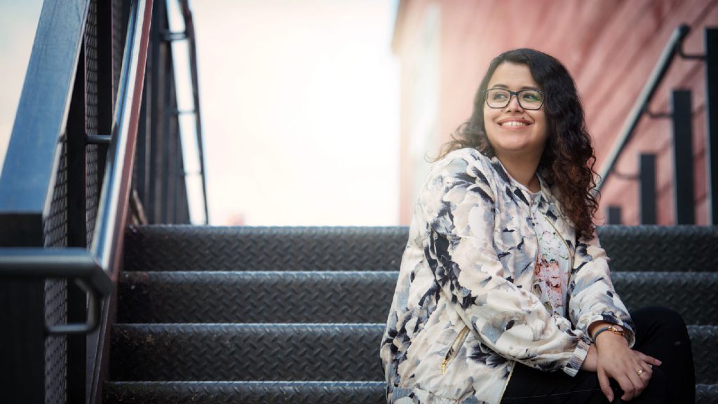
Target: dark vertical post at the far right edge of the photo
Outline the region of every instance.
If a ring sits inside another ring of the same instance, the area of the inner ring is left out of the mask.
[[[718,224],[718,28],[706,28],[706,161],[708,223]]]

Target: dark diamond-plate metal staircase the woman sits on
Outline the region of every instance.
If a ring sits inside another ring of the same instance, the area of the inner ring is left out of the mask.
[[[600,229],[629,308],[679,311],[718,401],[718,229]],[[404,227],[131,226],[104,403],[386,403]]]

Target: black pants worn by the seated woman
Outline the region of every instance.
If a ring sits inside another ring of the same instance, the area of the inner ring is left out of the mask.
[[[688,330],[675,311],[651,307],[631,313],[635,322],[633,349],[663,362],[653,367],[648,387],[630,403],[695,403],[696,380]],[[614,403],[622,403],[623,391],[611,380]],[[579,370],[575,377],[561,372],[542,372],[516,364],[503,395],[503,404],[608,403],[595,372]]]

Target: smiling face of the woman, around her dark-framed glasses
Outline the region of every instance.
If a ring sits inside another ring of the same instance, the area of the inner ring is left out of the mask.
[[[528,65],[504,62],[494,70],[488,89],[505,88],[521,91],[527,88],[541,90],[533,80]],[[489,143],[496,157],[540,159],[546,144],[545,105],[541,109],[523,109],[516,96],[511,96],[508,106],[490,108],[484,103],[484,126]]]

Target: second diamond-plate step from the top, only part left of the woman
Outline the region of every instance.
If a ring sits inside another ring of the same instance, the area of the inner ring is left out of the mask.
[[[123,272],[121,323],[383,323],[398,272]]]

